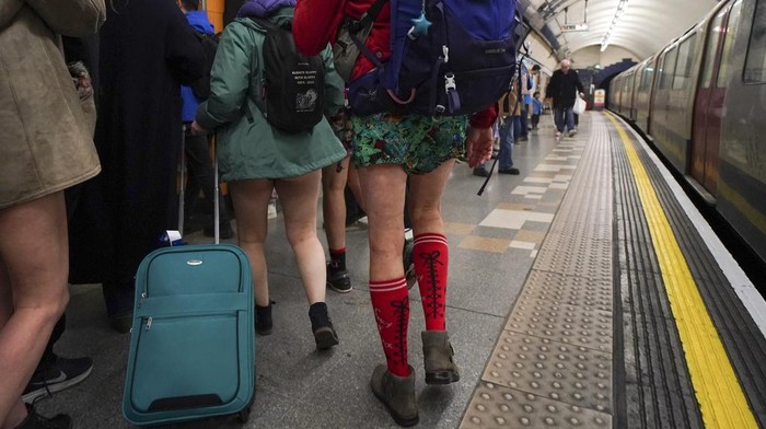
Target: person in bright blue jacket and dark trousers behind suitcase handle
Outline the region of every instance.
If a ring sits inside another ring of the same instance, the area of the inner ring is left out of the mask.
[[[216,28],[210,23],[210,20],[208,20],[208,13],[199,10],[199,0],[179,0],[179,7],[181,11],[186,15],[189,25],[192,25],[198,34],[205,35],[204,37],[213,37]],[[201,79],[207,79],[209,81],[210,77],[204,76]],[[212,210],[216,193],[216,172],[212,167],[212,160],[210,159],[210,136],[196,136],[192,132],[192,128],[189,127],[197,115],[197,106],[201,100],[195,94],[195,90],[192,86],[186,85],[181,86],[181,96],[184,98],[184,104],[181,109],[181,119],[186,125],[184,147],[186,166],[189,172],[184,198],[184,216],[186,217],[184,225],[186,229],[189,228],[190,219],[194,216],[200,189],[205,196],[205,207],[208,210]],[[219,236],[223,240],[231,239],[234,232],[231,229],[229,210],[227,209],[223,198],[219,198],[218,201],[220,212]],[[210,223],[202,229],[202,232],[206,236],[213,236],[213,229],[214,224]]]

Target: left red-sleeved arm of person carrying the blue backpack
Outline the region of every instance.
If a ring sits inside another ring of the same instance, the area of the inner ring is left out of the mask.
[[[298,0],[292,19],[295,47],[303,55],[317,55],[333,42],[344,18],[345,0]]]

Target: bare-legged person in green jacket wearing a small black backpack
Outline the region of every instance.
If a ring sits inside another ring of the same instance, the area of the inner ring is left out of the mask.
[[[297,113],[285,112],[281,117],[268,114],[268,102],[264,103],[264,98],[269,100],[268,86],[263,91],[260,82],[269,80],[262,76],[268,73],[270,66],[278,65],[265,62],[274,53],[266,42],[271,34],[277,34],[277,26],[290,27],[294,4],[294,0],[251,0],[243,4],[237,13],[240,18],[223,31],[211,72],[210,97],[199,105],[197,120],[192,127],[195,132],[218,131],[220,169],[234,204],[239,244],[253,267],[256,332],[268,335],[272,329],[264,247],[268,231],[267,207],[276,188],[288,241],[309,300],[312,333],[316,348],[322,350],[337,345],[338,336],[325,303],[326,268],[324,250],[316,235],[316,206],[322,169],[335,167],[347,155],[324,117],[336,115],[343,107],[343,80],[335,72],[333,53],[325,44],[318,59],[320,70],[300,73],[324,74],[324,89],[312,90],[323,93],[324,105],[317,102],[311,106],[312,112],[318,109],[324,116],[305,130],[275,125],[274,120],[287,119],[288,114]],[[289,51],[291,46],[281,48]],[[315,61],[316,58],[307,60],[309,63]],[[280,76],[293,73],[287,70]],[[297,100],[297,94],[276,95]],[[294,108],[294,104],[291,105]]]

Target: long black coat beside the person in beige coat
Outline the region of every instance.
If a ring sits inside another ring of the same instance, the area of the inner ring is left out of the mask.
[[[100,33],[95,143],[102,172],[70,225],[70,281],[131,282],[159,237],[177,229],[181,89],[205,53],[173,0],[114,0]]]

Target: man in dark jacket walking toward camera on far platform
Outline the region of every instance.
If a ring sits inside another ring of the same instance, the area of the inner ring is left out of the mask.
[[[565,59],[561,61],[561,68],[554,71],[554,76],[545,90],[545,96],[553,98],[556,136],[560,136],[564,132],[565,125],[569,131],[569,137],[573,137],[577,134],[572,107],[574,106],[578,92],[582,96],[584,92],[582,83],[580,83],[577,71],[571,70],[569,60]]]

